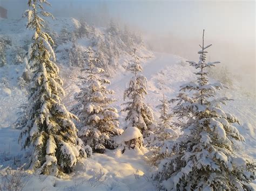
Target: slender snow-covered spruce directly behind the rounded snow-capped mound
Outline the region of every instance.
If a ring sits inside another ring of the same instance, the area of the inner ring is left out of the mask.
[[[134,60],[131,61],[127,70],[129,70],[134,76],[132,77],[129,87],[124,91],[124,100],[126,98],[130,101],[123,103],[126,107],[122,111],[127,112],[125,120],[129,122],[129,126],[136,126],[143,134],[143,137],[147,137],[148,130],[153,124],[154,116],[152,109],[145,103],[145,94],[147,94],[146,83],[147,79],[142,72],[142,66],[140,66],[139,57],[135,54]]]

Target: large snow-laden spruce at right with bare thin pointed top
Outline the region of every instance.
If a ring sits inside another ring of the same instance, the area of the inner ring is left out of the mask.
[[[242,141],[232,123],[239,123],[231,114],[225,113],[220,104],[227,97],[214,98],[221,83],[208,83],[207,67],[219,62],[206,62],[206,48],[200,46],[199,62],[189,61],[199,69],[197,82],[181,86],[185,92],[171,102],[177,102],[174,114],[185,122],[177,124],[184,131],[176,142],[167,144],[170,157],[163,159],[154,178],[164,190],[253,190],[250,182],[255,176],[255,166],[238,157],[232,150],[233,140]]]

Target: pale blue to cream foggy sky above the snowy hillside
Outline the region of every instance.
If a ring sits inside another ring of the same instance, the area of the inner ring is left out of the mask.
[[[144,36],[153,51],[198,60],[205,29],[211,61],[221,61],[246,89],[255,92],[254,1],[84,1],[49,0],[55,17],[82,15],[89,23],[106,26],[110,18]],[[25,0],[0,0],[9,18],[19,18]],[[1,27],[1,26],[0,26]]]

